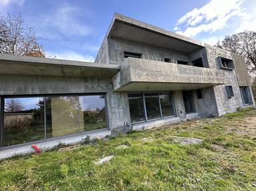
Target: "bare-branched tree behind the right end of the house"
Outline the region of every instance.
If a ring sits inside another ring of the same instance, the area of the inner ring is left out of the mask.
[[[217,47],[237,53],[246,58],[249,73],[256,72],[256,33],[244,31],[234,35],[227,35]]]

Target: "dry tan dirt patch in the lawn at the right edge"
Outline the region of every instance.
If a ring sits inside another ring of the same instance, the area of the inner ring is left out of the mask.
[[[255,136],[256,134],[256,117],[249,116],[243,122],[235,122],[233,126],[229,127],[229,132],[235,132],[240,135]]]

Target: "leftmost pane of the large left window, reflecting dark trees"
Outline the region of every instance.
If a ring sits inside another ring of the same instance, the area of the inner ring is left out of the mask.
[[[45,138],[43,98],[5,98],[3,146],[43,138]]]

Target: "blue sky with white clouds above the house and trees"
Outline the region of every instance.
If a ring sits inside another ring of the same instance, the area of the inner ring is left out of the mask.
[[[114,13],[204,43],[256,31],[255,0],[0,0],[1,15],[21,13],[48,57],[94,61]]]

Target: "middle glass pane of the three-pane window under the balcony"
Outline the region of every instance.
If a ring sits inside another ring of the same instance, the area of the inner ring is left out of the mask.
[[[157,93],[145,93],[144,96],[148,119],[160,118],[160,106]]]

